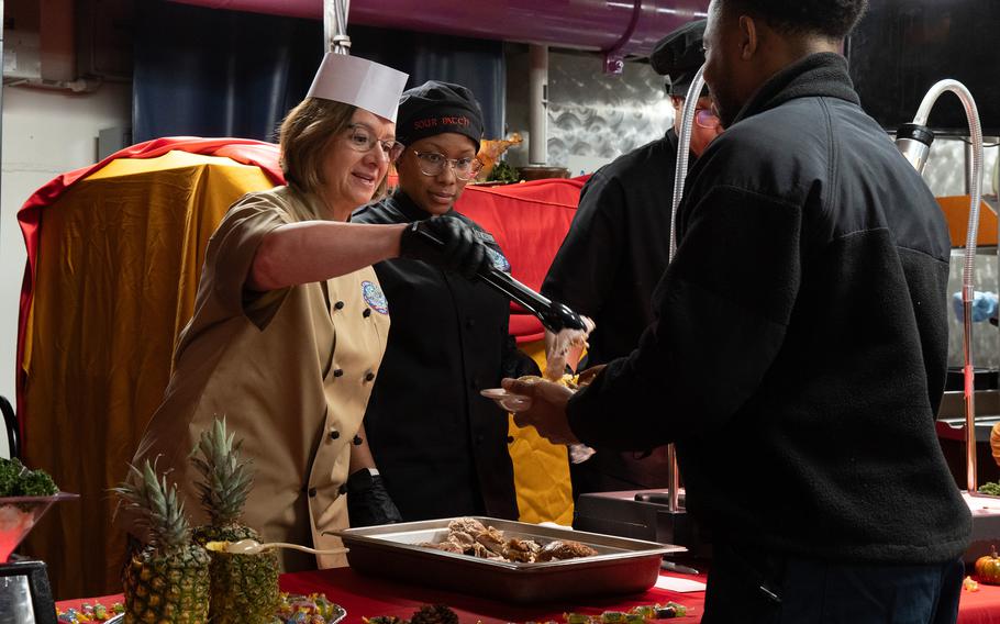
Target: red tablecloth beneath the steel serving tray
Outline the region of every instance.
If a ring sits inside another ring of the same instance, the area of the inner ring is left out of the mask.
[[[702,577],[684,577],[699,578]],[[997,624],[1000,623],[1000,587],[982,586],[977,592],[964,591],[962,605],[958,610],[959,624]],[[454,609],[462,622],[482,621],[484,624],[493,622],[529,622],[555,620],[563,622],[563,613],[578,611],[584,613],[601,613],[609,610],[626,610],[638,604],[667,602],[673,600],[689,608],[688,617],[678,619],[678,623],[696,623],[701,621],[701,611],[704,605],[704,593],[676,593],[659,589],[629,597],[612,597],[604,599],[589,599],[578,604],[538,604],[532,606],[515,606],[503,604],[493,600],[484,600],[416,586],[386,581],[374,577],[356,573],[351,568],[337,568],[314,572],[297,572],[281,576],[281,589],[292,593],[321,592],[347,610],[348,623],[362,621],[362,616],[397,615],[409,617],[422,604],[447,604]],[[100,602],[105,606],[121,601],[122,595],[109,595],[88,599],[87,602]],[[59,609],[79,609],[84,600],[67,600],[58,603]],[[582,604],[586,602],[586,605]]]

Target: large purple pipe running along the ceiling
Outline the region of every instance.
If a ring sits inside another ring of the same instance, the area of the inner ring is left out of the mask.
[[[174,0],[319,20],[321,0]],[[607,71],[627,56],[648,56],[668,32],[705,16],[709,0],[507,0],[456,3],[423,0],[353,0],[351,23],[382,29],[488,38],[551,47],[600,51]]]

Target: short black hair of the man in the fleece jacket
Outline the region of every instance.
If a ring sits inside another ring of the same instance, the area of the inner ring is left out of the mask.
[[[842,40],[868,8],[868,0],[720,0],[726,10],[759,16],[778,31]]]

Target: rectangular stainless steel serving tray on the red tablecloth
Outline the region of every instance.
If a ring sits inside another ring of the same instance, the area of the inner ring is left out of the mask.
[[[663,555],[685,550],[684,546],[474,517],[486,526],[499,528],[507,538],[534,539],[543,546],[554,539],[573,539],[598,554],[564,561],[520,564],[416,546],[422,542],[442,542],[448,522],[455,520],[451,517],[334,533],[351,549],[347,553],[351,567],[360,572],[514,603],[645,591],[656,582]]]

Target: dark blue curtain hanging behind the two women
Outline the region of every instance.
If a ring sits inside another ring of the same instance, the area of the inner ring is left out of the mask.
[[[500,42],[348,26],[353,54],[476,93],[486,134],[503,129]],[[285,113],[309,90],[324,51],[323,25],[257,13],[143,0],[136,3],[132,125],[136,143],[162,136],[275,141]]]

